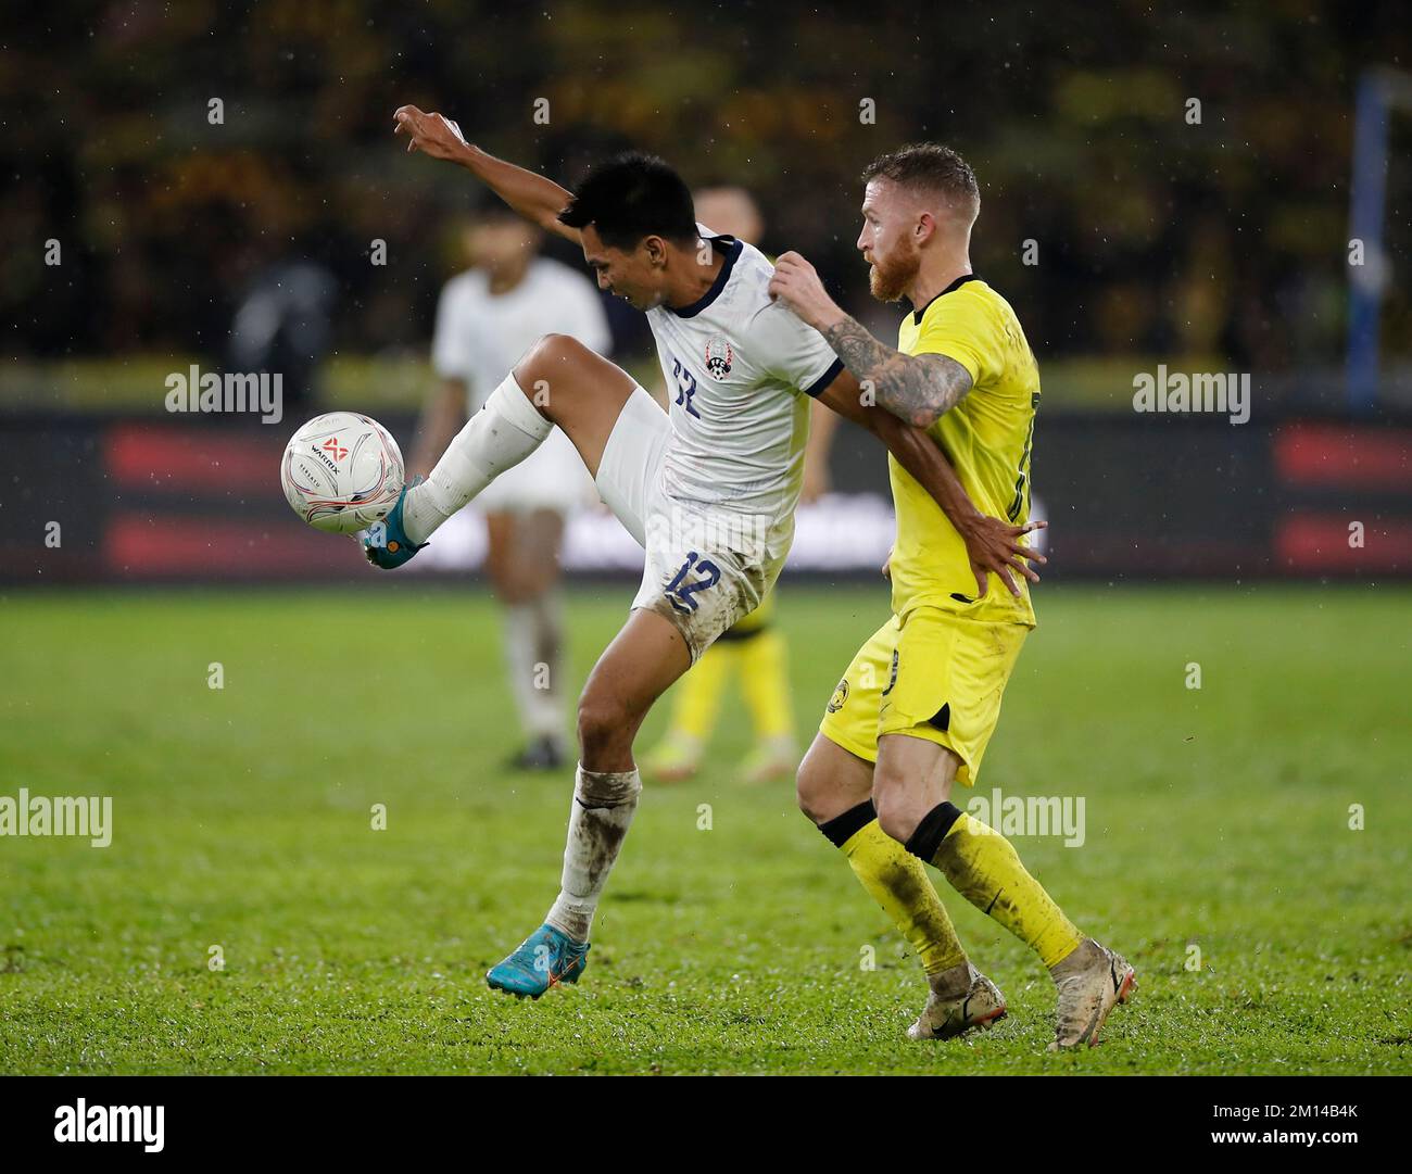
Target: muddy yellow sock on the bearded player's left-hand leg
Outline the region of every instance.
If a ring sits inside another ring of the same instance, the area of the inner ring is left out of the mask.
[[[871,809],[871,803],[867,804]],[[827,835],[825,824],[825,835]],[[854,875],[922,960],[928,975],[966,961],[946,906],[922,862],[874,818],[840,845]]]

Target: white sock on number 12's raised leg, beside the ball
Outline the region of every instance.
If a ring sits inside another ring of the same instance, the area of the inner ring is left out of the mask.
[[[425,542],[496,477],[538,449],[552,430],[554,423],[539,415],[515,377],[505,375],[446,446],[432,476],[407,491],[402,529],[408,539]]]

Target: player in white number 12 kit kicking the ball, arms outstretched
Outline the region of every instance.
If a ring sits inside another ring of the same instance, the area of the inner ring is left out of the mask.
[[[932,492],[973,557],[1000,571],[1024,553],[1018,528],[976,509],[936,444],[864,406],[827,344],[768,294],[772,267],[698,224],[690,190],[666,164],[627,155],[576,193],[472,147],[455,123],[397,111],[408,150],[453,161],[534,224],[579,243],[599,286],[645,310],[671,412],[623,370],[565,334],[541,339],[366,539],[391,569],[558,425],[599,492],[647,547],[633,611],[579,700],[580,761],[559,896],[545,923],[487,974],[538,998],[578,982],[589,928],[637,809],[633,741],[652,703],[774,584],[789,549],[809,419],[806,394],[864,423]]]

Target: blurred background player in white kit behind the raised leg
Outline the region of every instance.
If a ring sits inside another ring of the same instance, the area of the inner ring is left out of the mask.
[[[520,357],[546,332],[590,350],[611,349],[597,289],[582,274],[541,257],[544,234],[503,205],[466,224],[470,268],[442,289],[432,365],[441,387],[422,413],[414,473],[429,473],[450,439]],[[566,761],[568,700],[559,550],[566,518],[597,501],[573,444],[558,428],[522,464],[477,498],[486,516],[486,570],[503,607],[505,662],[525,745],[522,770]]]

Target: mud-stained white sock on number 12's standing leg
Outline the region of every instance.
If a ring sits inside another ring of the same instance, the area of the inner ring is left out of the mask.
[[[633,823],[642,779],[637,769],[600,773],[579,763],[563,849],[559,897],[545,917],[559,933],[587,941],[599,895]]]

